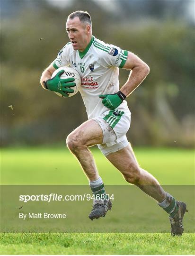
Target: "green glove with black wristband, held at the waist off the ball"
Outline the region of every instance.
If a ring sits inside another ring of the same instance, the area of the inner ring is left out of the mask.
[[[103,105],[110,110],[115,110],[126,98],[123,92],[118,91],[114,94],[99,95],[99,98],[103,99]]]

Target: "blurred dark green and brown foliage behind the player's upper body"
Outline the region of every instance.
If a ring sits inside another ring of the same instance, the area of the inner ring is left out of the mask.
[[[135,3],[121,1],[123,15],[108,13],[93,1],[74,1],[74,7],[66,9],[45,1],[29,2],[32,6],[2,22],[3,146],[65,141],[71,130],[87,120],[79,93],[61,99],[39,85],[44,68],[68,42],[65,21],[76,9],[89,11],[96,37],[132,51],[151,67],[147,79],[127,99],[132,111],[129,140],[134,145],[194,145],[194,25],[181,19],[184,5],[175,15],[169,11],[165,16],[166,1],[158,1],[163,8],[146,4],[145,12]],[[127,15],[128,8],[132,16]],[[120,70],[121,85],[128,74]]]

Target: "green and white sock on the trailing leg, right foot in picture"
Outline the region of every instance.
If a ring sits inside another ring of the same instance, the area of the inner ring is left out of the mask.
[[[167,213],[171,217],[174,217],[178,211],[177,202],[176,202],[175,198],[172,195],[170,195],[169,193],[167,193],[165,200],[158,204],[160,207],[163,208],[163,210],[167,211]]]

